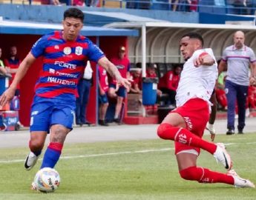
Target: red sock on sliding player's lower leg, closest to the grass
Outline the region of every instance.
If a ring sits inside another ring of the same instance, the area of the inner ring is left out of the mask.
[[[188,167],[180,170],[180,176],[189,181],[200,183],[226,183],[234,184],[234,178],[225,173],[217,173],[203,167]]]

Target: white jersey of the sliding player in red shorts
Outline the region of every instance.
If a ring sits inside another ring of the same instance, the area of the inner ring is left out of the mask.
[[[194,59],[202,53],[208,53],[215,63],[211,66],[194,67]],[[189,99],[200,98],[209,101],[214,90],[217,79],[217,62],[211,49],[196,50],[183,66],[180,75],[180,82],[177,88],[176,103],[177,107],[182,106]]]

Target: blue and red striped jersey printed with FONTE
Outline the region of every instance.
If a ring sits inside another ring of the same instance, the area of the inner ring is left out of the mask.
[[[76,86],[88,60],[97,62],[104,55],[85,36],[65,41],[62,31],[42,36],[31,49],[35,58],[42,56],[43,66],[36,82],[36,96],[74,99]]]

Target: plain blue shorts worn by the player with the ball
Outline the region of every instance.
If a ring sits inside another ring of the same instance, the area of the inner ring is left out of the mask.
[[[70,101],[35,96],[30,113],[30,132],[50,133],[50,127],[53,124],[61,124],[72,130],[75,109],[75,101],[70,104]]]

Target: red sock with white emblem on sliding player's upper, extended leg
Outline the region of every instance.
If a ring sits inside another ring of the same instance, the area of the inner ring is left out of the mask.
[[[209,153],[214,154],[217,146],[214,143],[200,139],[190,131],[182,127],[173,127],[171,124],[160,124],[157,129],[157,134],[161,139],[171,139],[186,144],[192,147],[200,147],[207,150]]]

